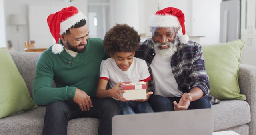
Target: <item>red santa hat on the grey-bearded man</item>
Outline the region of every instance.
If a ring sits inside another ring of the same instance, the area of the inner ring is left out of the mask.
[[[154,27],[164,28],[180,28],[182,29],[183,35],[180,36],[181,43],[188,43],[188,36],[185,30],[185,16],[181,10],[173,7],[164,8],[159,10],[155,15],[149,17],[148,26],[152,29]]]

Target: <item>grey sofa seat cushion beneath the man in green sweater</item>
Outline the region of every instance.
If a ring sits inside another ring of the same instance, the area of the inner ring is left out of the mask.
[[[0,120],[0,135],[42,135],[45,106]],[[97,135],[98,119],[79,118],[68,121],[68,135]]]

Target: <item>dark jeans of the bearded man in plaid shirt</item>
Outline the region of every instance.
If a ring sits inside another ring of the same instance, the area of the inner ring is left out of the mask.
[[[154,95],[148,99],[154,112],[160,111],[174,111],[173,101],[179,103],[180,97],[163,97]],[[211,104],[206,97],[190,102],[188,109],[203,109],[211,108]]]

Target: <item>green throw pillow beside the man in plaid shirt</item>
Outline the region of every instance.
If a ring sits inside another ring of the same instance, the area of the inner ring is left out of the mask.
[[[244,40],[202,46],[205,67],[209,75],[210,95],[220,100],[245,100],[240,94],[238,72]]]

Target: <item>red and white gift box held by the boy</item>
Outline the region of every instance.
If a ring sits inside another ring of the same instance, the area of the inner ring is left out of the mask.
[[[140,82],[123,82],[124,84],[120,86],[120,90],[125,91],[121,93],[122,97],[126,100],[140,100],[147,99],[147,86],[144,81]]]

